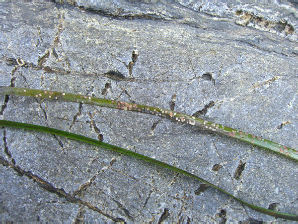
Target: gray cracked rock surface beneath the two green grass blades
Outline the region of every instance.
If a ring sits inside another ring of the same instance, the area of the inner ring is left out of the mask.
[[[290,3],[1,3],[0,85],[172,107],[298,148],[297,18]],[[276,153],[148,114],[0,101],[1,119],[103,138],[298,214],[298,163]],[[8,127],[0,135],[1,221],[276,221],[119,153]]]

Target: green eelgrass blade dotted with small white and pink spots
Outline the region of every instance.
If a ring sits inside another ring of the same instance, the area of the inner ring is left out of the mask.
[[[222,124],[217,124],[215,122],[211,122],[208,120],[201,119],[199,117],[194,117],[180,112],[174,112],[170,110],[165,110],[165,109],[160,109],[160,108],[140,105],[140,104],[131,104],[131,103],[122,102],[122,101],[106,100],[106,99],[95,98],[90,96],[83,96],[78,94],[63,93],[63,92],[56,92],[56,91],[47,91],[47,90],[34,90],[34,89],[27,89],[27,88],[0,86],[0,94],[63,100],[63,101],[69,101],[69,102],[91,104],[91,105],[96,105],[100,107],[114,108],[114,109],[125,110],[125,111],[154,114],[168,119],[174,119],[177,122],[196,125],[201,128],[205,128],[210,131],[221,133],[221,134],[230,136],[232,138],[236,138],[236,139],[257,145],[259,147],[280,153],[292,159],[298,160],[298,151],[296,149],[286,147],[284,145],[255,136],[253,134],[246,133],[244,131],[236,130],[234,128],[226,127]]]

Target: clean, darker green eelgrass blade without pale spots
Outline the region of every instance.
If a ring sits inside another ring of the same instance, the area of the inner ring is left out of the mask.
[[[182,169],[179,169],[175,166],[169,165],[167,163],[161,162],[161,161],[156,160],[156,159],[152,159],[148,156],[145,156],[145,155],[142,155],[142,154],[139,154],[139,153],[136,153],[136,152],[121,148],[121,147],[117,147],[117,146],[114,146],[114,145],[111,145],[111,144],[108,144],[108,143],[104,143],[104,142],[101,142],[101,141],[98,141],[98,140],[95,140],[95,139],[92,139],[92,138],[88,138],[88,137],[85,137],[85,136],[82,136],[82,135],[70,133],[70,132],[67,132],[67,131],[62,131],[62,130],[58,130],[58,129],[54,129],[54,128],[50,128],[50,127],[39,126],[39,125],[34,125],[34,124],[29,124],[29,123],[20,123],[20,122],[14,122],[14,121],[9,121],[9,120],[0,120],[0,126],[11,126],[11,127],[17,127],[17,128],[23,128],[23,129],[43,131],[43,132],[47,132],[47,133],[50,133],[50,134],[56,134],[56,135],[64,136],[64,137],[71,138],[71,139],[74,139],[74,140],[79,140],[79,141],[86,142],[86,143],[89,143],[89,144],[92,144],[92,145],[101,146],[103,148],[111,149],[113,151],[120,152],[120,153],[123,153],[123,154],[126,154],[126,155],[130,155],[130,156],[133,156],[135,158],[142,159],[142,160],[145,160],[147,162],[153,163],[155,165],[158,165],[158,166],[161,166],[161,167],[176,171],[178,173],[181,173],[181,174],[184,174],[186,176],[192,177],[196,180],[199,180],[199,181],[201,181],[205,184],[208,184],[209,186],[212,186],[212,187],[224,192],[225,194],[229,195],[230,197],[234,198],[235,200],[241,202],[242,204],[244,204],[244,205],[248,206],[249,208],[252,208],[252,209],[254,209],[254,210],[256,210],[260,213],[264,213],[264,214],[267,214],[269,216],[273,216],[273,217],[277,217],[277,218],[298,221],[298,215],[292,215],[292,214],[287,214],[287,213],[276,212],[276,211],[272,211],[272,210],[265,209],[265,208],[262,208],[262,207],[254,206],[252,204],[249,204],[247,202],[242,201],[241,199],[239,199],[239,198],[233,196],[232,194],[224,191],[223,189],[219,188],[218,186],[216,186],[216,185],[214,185],[214,184],[212,184],[212,183],[210,183],[210,182],[208,182],[208,181],[206,181],[206,180],[204,180],[204,179],[202,179],[202,178],[200,178],[200,177],[198,177],[198,176],[196,176],[192,173],[189,173],[189,172],[187,172],[185,170],[182,170]]]

